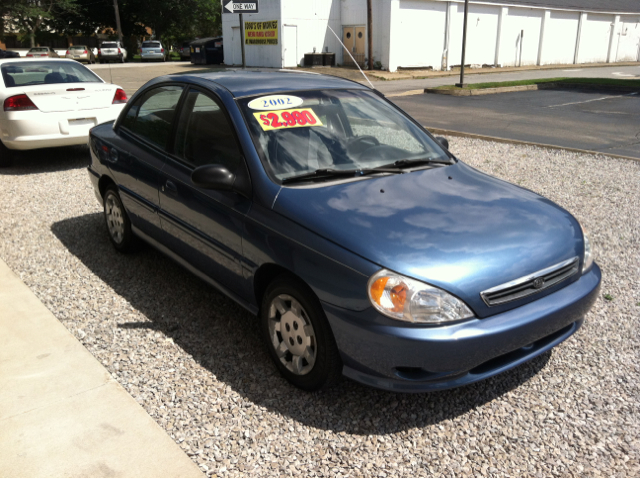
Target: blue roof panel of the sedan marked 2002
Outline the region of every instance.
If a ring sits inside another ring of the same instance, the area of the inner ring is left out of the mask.
[[[296,90],[326,90],[326,89],[359,89],[369,90],[369,87],[344,78],[317,73],[298,73],[293,71],[243,71],[226,70],[207,73],[193,73],[188,75],[172,75],[172,78],[187,76],[208,80],[223,86],[236,97],[275,94]],[[177,78],[176,78],[177,79]]]

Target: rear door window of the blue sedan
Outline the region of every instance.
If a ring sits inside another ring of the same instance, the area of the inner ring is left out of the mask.
[[[122,126],[165,148],[182,90],[183,87],[174,85],[151,90],[129,108]]]

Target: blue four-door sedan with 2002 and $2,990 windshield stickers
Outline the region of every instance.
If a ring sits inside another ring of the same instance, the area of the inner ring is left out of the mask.
[[[348,80],[159,77],[90,146],[115,248],[150,243],[256,314],[302,389],[469,384],[571,336],[598,294],[571,214]]]

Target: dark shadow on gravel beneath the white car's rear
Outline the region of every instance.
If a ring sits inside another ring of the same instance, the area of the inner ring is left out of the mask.
[[[86,168],[90,162],[91,154],[86,145],[14,151],[11,166],[0,168],[0,176],[75,170]]]

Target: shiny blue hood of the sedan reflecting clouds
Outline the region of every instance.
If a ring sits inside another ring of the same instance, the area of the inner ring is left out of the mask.
[[[381,267],[453,293],[479,317],[531,300],[487,309],[480,292],[581,256],[583,248],[580,225],[566,210],[462,162],[285,187],[274,210]]]

